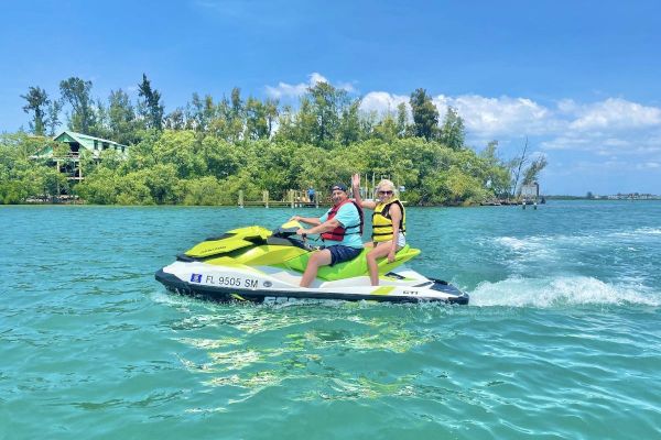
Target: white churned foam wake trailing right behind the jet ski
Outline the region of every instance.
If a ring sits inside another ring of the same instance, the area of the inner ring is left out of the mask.
[[[470,293],[473,306],[563,307],[576,305],[660,306],[661,293],[632,284],[609,284],[589,276],[510,277],[480,283]]]

